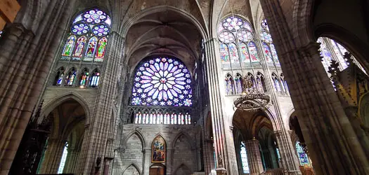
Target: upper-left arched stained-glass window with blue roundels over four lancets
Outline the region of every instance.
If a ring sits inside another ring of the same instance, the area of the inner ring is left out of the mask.
[[[91,8],[77,15],[70,25],[70,36],[61,59],[103,62],[110,25],[109,15],[98,8]]]

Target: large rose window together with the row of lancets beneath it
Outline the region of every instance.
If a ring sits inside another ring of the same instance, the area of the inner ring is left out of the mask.
[[[145,59],[134,73],[130,108],[138,111],[155,107],[155,113],[149,120],[136,115],[134,123],[190,125],[191,83],[190,71],[179,59]]]

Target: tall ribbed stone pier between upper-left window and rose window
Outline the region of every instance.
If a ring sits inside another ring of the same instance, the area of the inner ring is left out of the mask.
[[[121,71],[119,69],[119,60],[122,59],[124,38],[113,31],[110,34],[109,40],[105,63],[103,65],[102,83],[100,83],[98,99],[95,104],[98,108],[93,112],[91,137],[86,140],[89,141],[89,149],[86,155],[87,162],[84,164],[84,173],[86,174],[93,171],[93,167],[96,166],[96,158],[103,158],[104,156],[106,141],[108,139],[107,130],[110,118],[112,117],[112,104],[114,104],[112,99],[115,98],[117,91],[115,83],[118,80],[117,72]]]

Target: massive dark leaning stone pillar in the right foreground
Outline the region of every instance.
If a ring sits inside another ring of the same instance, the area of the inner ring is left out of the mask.
[[[279,44],[278,51],[283,52],[282,68],[288,72],[285,76],[291,83],[295,109],[302,115],[299,118],[306,144],[312,150],[309,153],[314,171],[316,174],[368,174],[368,158],[326,76],[318,44],[313,38],[303,36],[298,38],[304,45],[294,48],[294,40],[287,40],[292,38],[292,32],[279,1],[261,0],[261,6],[271,24],[274,41]]]

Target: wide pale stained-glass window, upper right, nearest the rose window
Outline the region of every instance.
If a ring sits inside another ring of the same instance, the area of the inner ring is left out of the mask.
[[[238,69],[244,64],[259,61],[253,37],[250,23],[238,16],[230,16],[219,24],[222,69]]]

